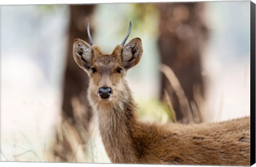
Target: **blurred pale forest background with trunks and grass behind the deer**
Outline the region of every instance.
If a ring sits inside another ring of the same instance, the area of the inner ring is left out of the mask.
[[[109,163],[75,38],[142,39],[126,79],[142,121],[250,115],[250,2],[1,6],[1,161]],[[149,91],[150,90],[150,91]]]

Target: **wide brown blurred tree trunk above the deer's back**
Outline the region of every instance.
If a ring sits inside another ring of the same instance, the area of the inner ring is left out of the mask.
[[[196,98],[201,97],[202,101],[205,97],[201,56],[208,29],[203,20],[204,3],[161,3],[158,9],[158,46],[161,61],[174,72],[185,93],[188,106],[181,106],[181,99],[177,96],[179,92],[175,92],[164,74],[161,98],[165,99],[165,92],[171,97],[178,121],[202,122],[201,106]]]

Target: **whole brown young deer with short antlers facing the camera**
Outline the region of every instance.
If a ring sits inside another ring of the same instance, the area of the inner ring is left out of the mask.
[[[93,44],[75,39],[73,56],[89,75],[88,99],[98,112],[99,129],[113,163],[249,165],[249,117],[210,124],[143,123],[137,118],[124,77],[142,55],[140,38],[103,54]]]

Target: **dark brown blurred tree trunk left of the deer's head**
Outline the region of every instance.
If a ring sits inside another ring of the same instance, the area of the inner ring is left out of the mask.
[[[85,106],[83,114],[84,127],[87,129],[91,118],[91,110],[87,102],[87,87],[88,77],[86,73],[78,67],[74,61],[73,41],[76,38],[82,38],[89,43],[87,37],[86,23],[92,23],[92,14],[94,5],[70,5],[70,27],[69,27],[69,44],[68,44],[68,59],[65,72],[63,103],[62,110],[68,116],[71,122],[74,122],[74,106],[71,104],[73,97],[78,97],[79,102]],[[90,27],[91,34],[93,27]]]

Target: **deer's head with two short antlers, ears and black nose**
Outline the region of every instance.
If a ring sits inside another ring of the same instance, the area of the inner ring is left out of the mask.
[[[121,45],[117,45],[111,54],[103,54],[101,49],[93,44],[90,27],[87,32],[90,45],[82,39],[75,39],[73,56],[82,69],[88,74],[90,103],[115,103],[125,100],[127,87],[124,79],[126,71],[140,61],[142,43],[140,38],[134,38],[125,45],[130,35],[131,22],[126,37]]]

